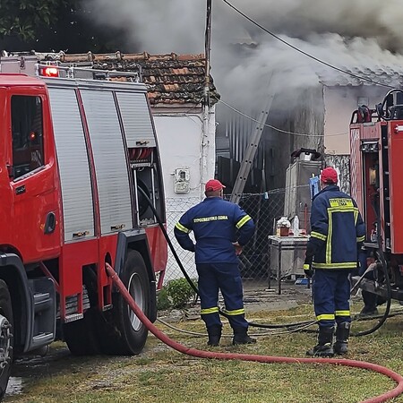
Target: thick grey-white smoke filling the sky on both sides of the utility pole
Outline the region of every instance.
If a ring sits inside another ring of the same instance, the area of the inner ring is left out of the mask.
[[[124,27],[133,52],[204,52],[206,0],[86,1],[99,23]],[[403,71],[401,0],[229,1],[267,30],[329,64]],[[270,90],[296,90],[315,84],[315,72],[339,76],[273,39],[222,0],[212,4],[211,74],[228,103],[256,99],[269,81]],[[237,42],[257,47],[240,53],[230,45]]]

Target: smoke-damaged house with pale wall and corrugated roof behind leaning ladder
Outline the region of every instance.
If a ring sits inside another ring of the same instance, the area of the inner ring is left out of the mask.
[[[252,209],[253,217],[264,222],[257,228],[258,247],[253,254],[269,250],[267,236],[273,233],[273,221],[282,215],[288,218],[297,215],[300,228],[309,231],[309,177],[313,173],[317,175],[321,167],[336,167],[340,186],[349,193],[348,131],[353,112],[362,105],[374,108],[382,102],[389,86],[401,88],[403,68],[356,69],[351,73],[355,76],[335,75],[334,72],[318,74],[316,85],[296,93],[284,89],[273,95],[268,90],[267,98],[272,97],[272,100],[267,103],[270,104],[266,110],[267,119],[244,187],[244,193],[256,194],[255,197],[244,194],[240,201],[241,205]],[[231,193],[260,111],[236,111],[219,102],[216,115],[219,123],[216,137],[218,177]],[[313,170],[305,170],[304,175],[296,173],[290,180],[287,169],[299,162],[295,151],[301,149],[316,150],[316,164],[312,165]],[[265,201],[267,192],[269,197]],[[253,267],[261,267],[262,272],[264,262],[266,258],[259,256]]]

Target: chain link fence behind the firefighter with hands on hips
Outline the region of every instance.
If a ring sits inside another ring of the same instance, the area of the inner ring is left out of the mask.
[[[283,216],[286,189],[277,189],[265,193],[243,194],[239,205],[252,218],[256,230],[252,240],[245,245],[244,252],[240,255],[240,270],[244,280],[248,283],[256,281],[261,285],[270,284],[270,244],[268,236],[275,233],[276,220]],[[229,198],[229,196],[228,196]],[[176,243],[174,227],[186,210],[200,202],[198,198],[167,199],[167,233],[172,240],[184,269],[191,279],[197,279],[194,264],[194,253],[184,251]],[[193,233],[191,233],[193,236]],[[275,272],[271,274],[275,276]],[[168,262],[164,283],[169,280],[183,278],[173,254],[168,248]]]

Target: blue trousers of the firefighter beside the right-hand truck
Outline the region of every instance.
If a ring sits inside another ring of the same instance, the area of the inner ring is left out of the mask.
[[[315,270],[313,306],[319,326],[351,322],[349,270]]]

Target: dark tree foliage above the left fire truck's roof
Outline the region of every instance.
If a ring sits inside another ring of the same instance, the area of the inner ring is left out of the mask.
[[[0,0],[0,49],[94,53],[125,47],[124,28],[97,24],[96,8],[83,0]]]

